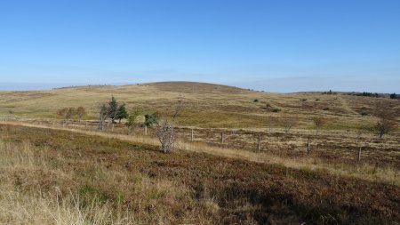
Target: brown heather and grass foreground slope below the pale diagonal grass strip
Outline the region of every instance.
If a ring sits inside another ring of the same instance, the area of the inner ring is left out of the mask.
[[[0,126],[0,223],[396,224],[384,183]]]

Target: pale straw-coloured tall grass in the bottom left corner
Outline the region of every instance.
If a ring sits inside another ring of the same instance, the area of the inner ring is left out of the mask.
[[[115,211],[111,205],[93,200],[83,207],[76,193],[63,196],[57,187],[52,192],[42,191],[34,172],[51,170],[48,151],[34,150],[27,141],[18,145],[0,141],[0,224],[133,224],[129,213]],[[68,176],[58,170],[52,173]],[[21,187],[15,175],[24,176],[30,187]]]

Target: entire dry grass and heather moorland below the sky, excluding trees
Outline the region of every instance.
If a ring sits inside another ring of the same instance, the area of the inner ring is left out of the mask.
[[[124,121],[100,132],[111,96],[143,113],[183,99],[176,150],[161,153],[153,128],[127,135]],[[186,82],[0,92],[0,224],[399,224],[399,130],[368,130],[381,105],[398,123],[400,100],[344,93]],[[79,106],[84,120],[61,125],[56,112]],[[298,120],[289,133],[287,117]],[[314,117],[326,120],[318,134]]]

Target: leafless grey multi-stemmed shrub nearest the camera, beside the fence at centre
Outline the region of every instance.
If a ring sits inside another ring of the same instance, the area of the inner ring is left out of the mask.
[[[180,116],[183,109],[182,100],[178,101],[171,117],[162,117],[156,122],[156,136],[160,141],[160,150],[164,153],[171,153],[175,142],[175,121]]]

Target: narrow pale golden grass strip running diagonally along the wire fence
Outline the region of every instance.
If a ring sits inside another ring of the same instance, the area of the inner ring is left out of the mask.
[[[156,138],[143,135],[128,136],[124,134],[84,131],[62,126],[52,127],[46,125],[31,125],[21,122],[1,122],[0,124],[24,125],[46,129],[65,130],[75,133],[83,133],[87,135],[95,135],[105,138],[114,138],[123,141],[133,141],[148,145],[159,146],[159,142]],[[279,157],[276,155],[268,154],[266,152],[257,153],[241,149],[220,148],[204,142],[197,141],[178,140],[176,143],[176,147],[180,150],[206,153],[219,157],[238,158],[262,164],[284,165],[285,167],[292,169],[323,171],[325,173],[330,173],[336,176],[354,177],[365,181],[377,181],[400,186],[400,173],[393,166],[383,165],[378,167],[377,165],[369,165],[366,163],[358,163],[354,165],[343,163],[326,163],[323,160],[315,157]]]

